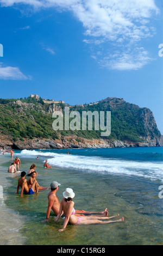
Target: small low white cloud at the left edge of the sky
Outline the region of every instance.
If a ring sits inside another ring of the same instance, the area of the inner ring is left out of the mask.
[[[4,66],[0,63],[0,79],[4,80],[27,80],[31,79],[30,76],[25,76],[22,74],[19,68],[12,66]]]

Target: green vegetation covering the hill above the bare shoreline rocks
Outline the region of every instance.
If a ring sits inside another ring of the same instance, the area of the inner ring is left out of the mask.
[[[20,102],[16,103],[17,100]],[[59,138],[60,135],[72,134],[89,139],[101,138],[101,130],[54,131],[52,129],[54,121],[54,118],[52,118],[52,107],[53,104],[48,105],[41,98],[39,100],[35,100],[32,97],[27,97],[27,99],[0,99],[1,132],[4,135],[11,135],[14,141],[17,141],[17,139],[23,141],[24,138],[55,139]],[[56,108],[64,113],[65,105],[55,104]],[[111,111],[111,135],[108,137],[110,141],[141,142],[147,136],[151,138],[160,136],[156,125],[152,126],[150,119],[147,120],[146,118],[146,115],[152,112],[147,108],[140,108],[123,101],[123,99],[108,98],[93,105],[73,106],[70,108],[71,111],[78,111],[80,117],[82,117],[82,111]],[[153,115],[151,119],[153,123]]]

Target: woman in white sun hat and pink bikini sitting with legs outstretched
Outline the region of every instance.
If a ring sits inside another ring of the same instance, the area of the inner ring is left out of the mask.
[[[109,224],[112,222],[121,222],[124,221],[124,218],[120,218],[117,221],[104,221],[108,220],[110,218],[118,217],[119,215],[108,217],[108,211],[104,213],[103,216],[82,216],[82,217],[77,217],[75,216],[75,210],[73,208],[74,202],[72,201],[75,194],[71,188],[66,188],[65,192],[63,193],[64,198],[61,200],[60,203],[60,209],[59,209],[59,214],[55,221],[58,221],[60,216],[62,215],[62,212],[64,212],[65,215],[65,221],[62,229],[59,229],[58,231],[63,231],[68,222],[71,224]]]

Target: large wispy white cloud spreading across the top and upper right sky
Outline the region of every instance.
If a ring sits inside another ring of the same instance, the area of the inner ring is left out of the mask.
[[[97,60],[96,53],[103,51],[103,66],[106,58],[110,58],[110,63],[121,63],[114,64],[115,69],[120,69],[120,66],[123,69],[124,66],[124,70],[130,69],[131,63],[136,65],[132,54],[135,47],[139,48],[139,54],[143,56],[145,50],[141,47],[142,40],[153,36],[154,28],[151,27],[150,21],[154,15],[159,14],[154,0],[0,0],[0,3],[6,7],[22,3],[31,5],[34,9],[53,7],[61,11],[71,11],[83,23],[83,41],[91,47],[93,58]],[[116,54],[114,59],[111,54],[105,56],[105,52],[109,52],[112,46],[121,47],[121,52]],[[128,54],[125,54],[126,52]],[[139,60],[137,69],[151,61],[148,56],[145,59]],[[99,63],[101,62],[100,59]],[[106,65],[106,68],[109,66]]]

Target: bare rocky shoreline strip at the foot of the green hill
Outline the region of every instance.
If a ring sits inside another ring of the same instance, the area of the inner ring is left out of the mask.
[[[18,139],[16,142],[8,136],[0,139],[0,148],[5,149],[68,149],[68,148],[137,148],[162,147],[163,139],[147,139],[144,142],[109,141],[109,139],[86,139],[76,135],[64,136],[60,139]]]

